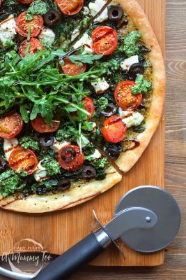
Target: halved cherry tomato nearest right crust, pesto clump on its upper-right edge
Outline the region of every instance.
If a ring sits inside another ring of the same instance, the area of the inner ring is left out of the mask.
[[[118,106],[123,110],[132,111],[142,102],[142,94],[132,94],[131,89],[135,85],[132,80],[125,80],[116,87],[114,97]]]

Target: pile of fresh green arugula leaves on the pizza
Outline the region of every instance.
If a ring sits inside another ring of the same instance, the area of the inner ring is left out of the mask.
[[[0,114],[20,108],[25,123],[40,113],[47,124],[51,123],[56,109],[59,114],[77,111],[79,121],[89,113],[81,100],[89,93],[84,91],[84,81],[99,70],[90,69],[77,76],[64,75],[60,64],[68,55],[58,50],[40,50],[21,58],[11,50],[0,59]],[[76,64],[93,64],[100,55],[70,55]],[[70,96],[72,101],[69,101]],[[82,114],[79,114],[81,112]]]

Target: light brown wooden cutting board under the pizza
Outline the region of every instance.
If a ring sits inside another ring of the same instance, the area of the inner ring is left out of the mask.
[[[155,31],[164,53],[165,0],[139,0]],[[52,214],[17,214],[0,211],[0,255],[16,252],[22,239],[33,239],[43,250],[60,254],[95,229],[92,209],[105,223],[113,217],[120,198],[136,186],[155,185],[164,188],[164,121],[139,162],[123,176],[123,181],[106,193],[66,211]],[[18,242],[18,243],[17,243]],[[29,246],[20,247],[29,251]],[[142,254],[122,245],[123,259],[114,246],[96,258],[93,265],[155,266],[164,261],[164,252]],[[19,250],[19,249],[18,249]],[[31,248],[33,251],[33,246]]]

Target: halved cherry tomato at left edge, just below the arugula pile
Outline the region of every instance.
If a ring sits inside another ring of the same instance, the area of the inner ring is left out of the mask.
[[[0,117],[0,137],[10,139],[19,134],[23,127],[22,116],[19,113],[8,113]]]

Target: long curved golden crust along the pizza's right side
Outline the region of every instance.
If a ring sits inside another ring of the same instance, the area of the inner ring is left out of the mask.
[[[157,38],[155,37],[150,23],[148,22],[148,18],[144,14],[144,10],[141,9],[141,6],[139,6],[139,3],[135,0],[117,0],[117,2],[121,4],[130,18],[132,18],[135,27],[137,27],[142,34],[142,39],[145,45],[150,47],[151,52],[149,52],[149,59],[153,65],[153,94],[150,111],[144,125],[146,130],[137,137],[140,141],[140,145],[137,148],[134,148],[134,150],[121,153],[118,160],[116,160],[116,165],[118,165],[121,171],[126,173],[139,160],[142,153],[144,153],[160,123],[162,111],[164,109],[166,77],[164,59],[162,57],[160,45],[157,42]]]

